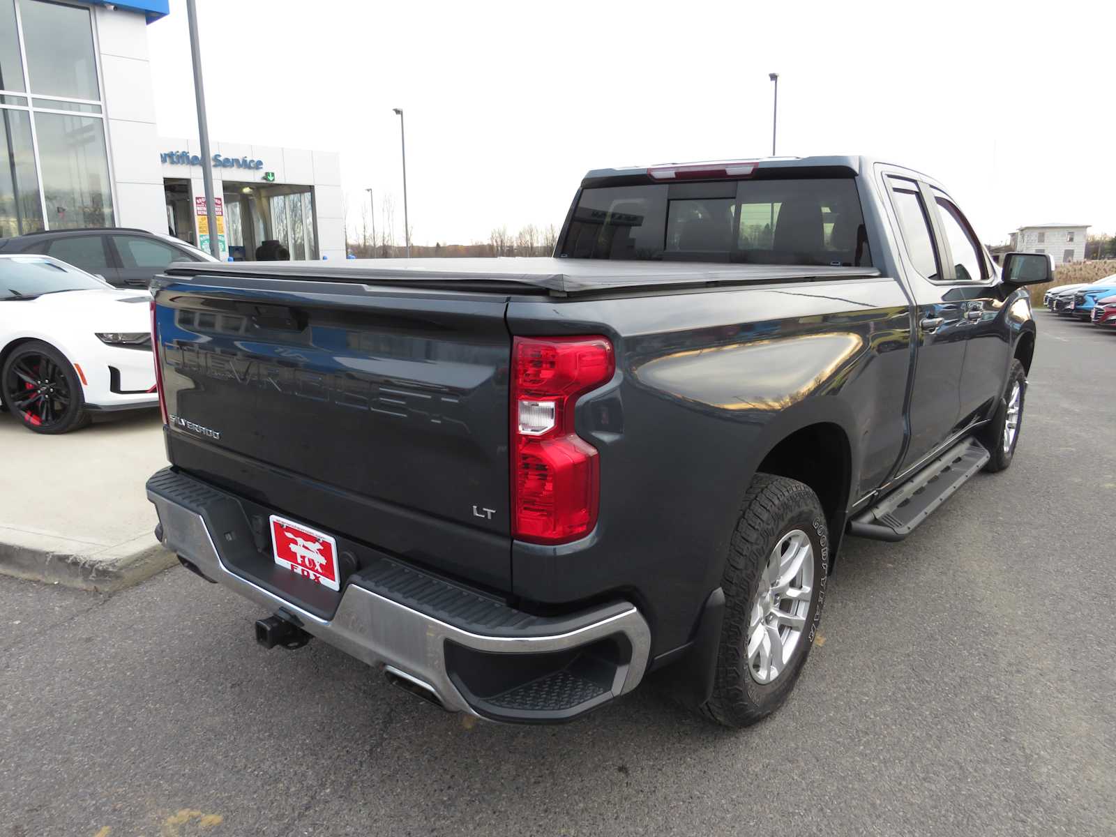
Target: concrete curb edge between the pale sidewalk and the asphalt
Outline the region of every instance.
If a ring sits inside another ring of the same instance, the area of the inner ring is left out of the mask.
[[[175,564],[174,552],[151,535],[93,555],[0,542],[0,573],[97,593],[131,587]]]

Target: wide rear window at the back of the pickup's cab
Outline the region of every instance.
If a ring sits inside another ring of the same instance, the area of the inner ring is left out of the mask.
[[[856,183],[844,177],[585,189],[559,254],[872,266]]]

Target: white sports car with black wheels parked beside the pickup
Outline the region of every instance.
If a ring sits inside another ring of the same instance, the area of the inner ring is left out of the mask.
[[[157,407],[151,295],[49,256],[0,256],[0,405],[36,433]]]

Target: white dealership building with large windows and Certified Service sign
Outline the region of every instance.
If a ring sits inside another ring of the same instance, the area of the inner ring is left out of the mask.
[[[0,238],[136,227],[209,248],[200,143],[155,126],[146,27],[169,12],[0,0]],[[222,258],[345,258],[336,153],[211,140],[210,154]]]

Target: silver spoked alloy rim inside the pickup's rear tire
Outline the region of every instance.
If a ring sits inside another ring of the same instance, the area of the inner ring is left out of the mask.
[[[814,545],[801,529],[783,535],[768,556],[748,624],[748,671],[757,683],[773,682],[802,635],[814,597]]]

